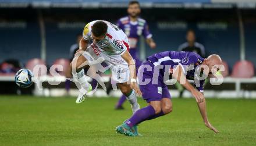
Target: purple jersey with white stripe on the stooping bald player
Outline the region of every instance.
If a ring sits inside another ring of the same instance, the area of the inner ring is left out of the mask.
[[[173,67],[177,65],[182,66],[183,72],[186,74],[186,78],[188,80],[194,80],[195,68],[198,65],[201,65],[204,58],[194,52],[166,51],[148,56],[147,61],[153,64],[153,66],[163,65],[163,69],[160,69],[159,72],[160,80],[163,80],[166,65],[171,66],[169,72],[172,72]],[[204,80],[200,80],[200,86],[195,87],[198,91],[203,92]]]

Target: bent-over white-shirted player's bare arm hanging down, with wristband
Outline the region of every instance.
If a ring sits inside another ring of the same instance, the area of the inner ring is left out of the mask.
[[[136,83],[136,66],[135,61],[133,60],[133,57],[131,57],[130,53],[126,50],[125,53],[123,53],[122,58],[126,60],[128,63],[129,69],[130,69],[130,82],[131,82],[131,88],[135,90],[135,92],[141,96],[142,92],[140,91],[140,88],[138,87]]]

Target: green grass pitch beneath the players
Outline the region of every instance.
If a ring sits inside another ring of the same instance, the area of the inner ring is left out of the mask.
[[[194,99],[173,99],[173,112],[138,126],[142,137],[117,134],[131,115],[113,109],[117,98],[0,96],[0,145],[255,145],[256,100],[207,99],[208,130]],[[139,99],[141,107],[145,102]]]

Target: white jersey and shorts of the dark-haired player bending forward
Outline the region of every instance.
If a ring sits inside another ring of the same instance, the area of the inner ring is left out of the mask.
[[[88,42],[91,42],[91,28],[95,22],[88,23],[84,27],[83,38]],[[87,52],[97,59],[99,56],[105,59],[105,63],[111,65],[112,77],[119,83],[125,83],[129,79],[129,66],[128,63],[122,58],[121,55],[125,51],[129,51],[129,42],[125,33],[114,24],[103,21],[108,25],[106,36],[103,40],[96,43],[91,43],[87,48]],[[89,56],[84,54],[88,60],[91,60]]]

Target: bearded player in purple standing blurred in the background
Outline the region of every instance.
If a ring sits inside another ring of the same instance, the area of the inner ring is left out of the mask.
[[[130,1],[127,9],[129,16],[122,17],[118,20],[117,26],[125,32],[129,38],[130,54],[133,59],[136,60],[136,69],[140,67],[141,61],[138,56],[137,42],[141,35],[146,38],[147,44],[150,48],[155,48],[156,44],[152,39],[152,34],[148,29],[148,24],[144,19],[139,17],[140,15],[140,3],[138,1]],[[119,99],[116,103],[116,109],[123,109],[123,102],[126,101],[125,95]]]

